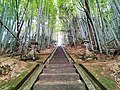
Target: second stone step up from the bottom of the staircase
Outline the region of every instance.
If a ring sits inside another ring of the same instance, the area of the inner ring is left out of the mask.
[[[57,73],[57,74],[49,74],[42,73],[39,76],[40,81],[75,81],[79,80],[79,74],[77,73]]]

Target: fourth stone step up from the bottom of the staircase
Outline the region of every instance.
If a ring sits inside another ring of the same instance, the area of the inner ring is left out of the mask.
[[[46,68],[66,68],[66,67],[74,67],[73,64],[46,64]]]

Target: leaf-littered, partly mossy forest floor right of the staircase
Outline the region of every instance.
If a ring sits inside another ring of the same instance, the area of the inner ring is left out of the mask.
[[[108,90],[120,90],[120,56],[105,56],[104,54],[89,53],[96,58],[86,58],[85,48],[78,46],[65,47],[66,51],[78,64],[84,65]]]

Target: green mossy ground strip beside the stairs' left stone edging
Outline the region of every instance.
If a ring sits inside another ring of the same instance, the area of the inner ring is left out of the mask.
[[[18,77],[9,80],[8,82],[0,83],[0,90],[14,90],[14,87],[33,69],[35,64],[29,63],[28,69],[22,72]]]

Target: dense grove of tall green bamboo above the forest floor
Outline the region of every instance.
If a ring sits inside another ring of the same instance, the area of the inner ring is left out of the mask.
[[[28,53],[31,39],[38,50],[54,43],[89,40],[100,53],[120,48],[120,0],[0,0],[0,52]]]

